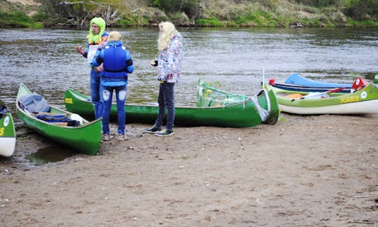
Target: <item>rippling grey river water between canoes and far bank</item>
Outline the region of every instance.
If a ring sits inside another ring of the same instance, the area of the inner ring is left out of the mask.
[[[135,65],[127,102],[156,102],[156,70],[149,62],[158,54],[158,29],[118,31]],[[283,82],[293,72],[352,83],[357,76],[372,79],[378,71],[378,29],[179,28],[179,32],[185,53],[175,86],[177,105],[195,105],[199,78],[219,81],[222,90],[253,95],[262,78]],[[15,113],[20,83],[61,108],[67,88],[90,95],[90,67],[74,50],[79,45],[86,49],[86,35],[87,30],[74,29],[1,29],[0,104]]]

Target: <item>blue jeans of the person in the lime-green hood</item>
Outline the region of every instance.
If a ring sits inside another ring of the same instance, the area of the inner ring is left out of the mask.
[[[100,97],[101,86],[100,86],[101,73],[94,69],[90,69],[90,98],[94,105],[94,118],[102,117],[102,100]]]

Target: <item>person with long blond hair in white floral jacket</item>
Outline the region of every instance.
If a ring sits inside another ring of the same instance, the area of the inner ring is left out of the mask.
[[[183,37],[177,32],[172,22],[159,24],[157,61],[151,65],[158,67],[158,81],[160,83],[158,104],[159,113],[152,128],[146,128],[146,132],[155,133],[157,136],[173,135],[174,127],[174,84],[179,82],[180,71],[183,62]],[[162,130],[162,123],[167,109],[167,125]]]

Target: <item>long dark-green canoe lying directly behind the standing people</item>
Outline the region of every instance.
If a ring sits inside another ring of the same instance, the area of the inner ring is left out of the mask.
[[[269,94],[269,97],[270,95],[272,95],[272,98],[274,97],[273,92]],[[260,99],[266,102],[264,105],[267,106],[267,99],[263,98],[265,92],[262,92],[260,96]],[[86,118],[93,118],[93,104],[88,100],[87,96],[68,89],[65,93],[64,104],[68,111]],[[262,106],[264,105],[262,104]],[[158,116],[158,109],[157,105],[126,104],[126,122],[152,124]],[[113,104],[111,106],[111,120],[115,121],[116,118],[116,104]],[[175,125],[247,128],[261,123],[262,119],[251,99],[226,106],[175,106]]]

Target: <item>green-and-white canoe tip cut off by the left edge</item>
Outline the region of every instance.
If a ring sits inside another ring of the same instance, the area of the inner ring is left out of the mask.
[[[0,114],[0,156],[9,157],[15,151],[15,125],[12,114]]]

